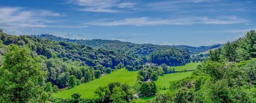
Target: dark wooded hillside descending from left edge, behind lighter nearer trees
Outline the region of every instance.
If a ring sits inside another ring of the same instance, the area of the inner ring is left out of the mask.
[[[134,56],[126,56],[119,52],[106,49],[93,49],[92,47],[74,44],[69,42],[55,42],[49,39],[40,39],[31,36],[11,36],[1,33],[3,44],[17,44],[19,46],[27,46],[38,55],[47,57],[59,57],[63,59],[71,59],[72,61],[81,61],[88,66],[96,66],[101,64],[104,67],[114,67],[120,62],[127,65],[134,65],[134,62],[140,61]]]

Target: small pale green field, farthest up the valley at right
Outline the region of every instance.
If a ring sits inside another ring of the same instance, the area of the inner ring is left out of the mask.
[[[184,66],[175,66],[175,71],[184,71],[184,70],[187,70],[187,71],[191,71],[191,70],[195,70],[197,69],[197,66],[200,64],[201,62],[190,62],[190,63],[187,63],[185,64]]]

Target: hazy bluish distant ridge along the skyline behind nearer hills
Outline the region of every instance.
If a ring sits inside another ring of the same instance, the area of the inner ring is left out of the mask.
[[[209,51],[222,46],[222,44],[215,44],[212,46],[167,46],[167,45],[156,45],[156,44],[135,44],[132,42],[123,42],[118,40],[102,40],[102,39],[92,39],[92,40],[82,40],[82,39],[68,39],[63,37],[53,36],[51,34],[41,34],[36,37],[51,39],[52,41],[66,41],[73,42],[78,44],[84,44],[93,48],[103,48],[103,49],[112,49],[117,52],[126,52],[128,54],[137,54],[139,56],[147,56],[150,53],[157,50],[165,49],[182,49],[188,51],[189,54],[199,54],[200,52]]]

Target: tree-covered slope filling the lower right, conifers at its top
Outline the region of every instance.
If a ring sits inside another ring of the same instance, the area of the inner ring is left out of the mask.
[[[210,51],[192,76],[149,102],[256,102],[256,32]]]

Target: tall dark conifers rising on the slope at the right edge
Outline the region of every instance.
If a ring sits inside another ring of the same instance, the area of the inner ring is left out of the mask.
[[[250,31],[234,42],[227,42],[221,49],[210,52],[212,61],[239,62],[256,57],[256,32]]]

